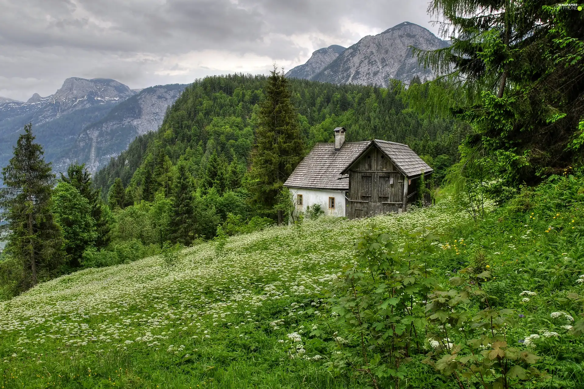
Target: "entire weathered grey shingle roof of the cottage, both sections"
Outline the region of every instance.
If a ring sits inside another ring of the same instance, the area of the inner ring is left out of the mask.
[[[373,140],[347,142],[339,151],[334,143],[317,143],[296,166],[284,186],[309,189],[349,190],[349,175],[342,173],[373,143],[408,177],[432,173],[430,168],[408,145]]]

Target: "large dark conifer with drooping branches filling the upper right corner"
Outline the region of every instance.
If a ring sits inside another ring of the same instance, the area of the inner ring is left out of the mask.
[[[581,162],[582,12],[529,0],[435,0],[430,10],[446,20],[452,42],[425,55],[449,73],[433,83],[432,103],[472,125],[465,145],[485,159],[499,190]]]

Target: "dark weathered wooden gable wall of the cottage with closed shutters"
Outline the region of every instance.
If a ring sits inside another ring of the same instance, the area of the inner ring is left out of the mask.
[[[390,159],[371,148],[349,171],[349,218],[397,212],[404,199],[404,176]]]

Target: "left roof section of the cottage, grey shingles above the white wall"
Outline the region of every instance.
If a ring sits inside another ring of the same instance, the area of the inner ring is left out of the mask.
[[[349,190],[349,175],[341,175],[371,141],[347,142],[339,151],[334,143],[317,143],[296,166],[284,186],[312,189]]]

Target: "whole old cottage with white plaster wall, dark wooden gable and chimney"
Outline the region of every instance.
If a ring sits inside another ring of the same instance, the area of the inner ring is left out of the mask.
[[[418,199],[418,180],[433,169],[408,145],[345,143],[345,132],[335,128],[335,143],[316,144],[284,183],[296,210],[319,204],[325,214],[349,218],[407,210]]]

